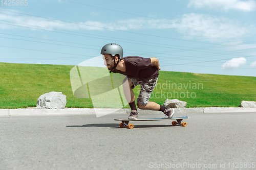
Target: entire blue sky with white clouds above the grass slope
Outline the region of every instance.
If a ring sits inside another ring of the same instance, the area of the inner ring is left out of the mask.
[[[255,0],[5,2],[0,62],[98,66],[118,43],[161,70],[256,76]]]

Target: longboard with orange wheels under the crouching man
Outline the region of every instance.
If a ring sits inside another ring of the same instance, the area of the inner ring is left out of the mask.
[[[129,129],[133,129],[134,125],[129,124],[130,121],[176,120],[177,122],[176,121],[172,122],[173,126],[181,125],[181,126],[185,127],[185,126],[187,126],[187,123],[182,122],[182,120],[183,119],[188,119],[188,118],[189,118],[188,116],[183,116],[183,117],[173,117],[173,118],[164,117],[164,118],[145,118],[145,119],[118,119],[118,118],[115,118],[114,120],[121,121],[121,123],[119,124],[119,126],[121,128],[127,127]]]

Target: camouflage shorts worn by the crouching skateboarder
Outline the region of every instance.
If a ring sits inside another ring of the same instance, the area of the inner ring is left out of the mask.
[[[137,99],[137,103],[140,105],[147,105],[148,101],[150,100],[151,93],[157,84],[158,77],[143,78],[126,76],[126,78],[132,80],[132,89],[140,84],[140,93]]]

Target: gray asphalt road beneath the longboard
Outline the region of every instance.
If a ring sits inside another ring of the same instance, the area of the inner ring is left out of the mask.
[[[127,115],[111,114],[2,116],[0,169],[255,169],[256,113],[175,116],[189,116],[187,126],[126,129],[114,118]],[[162,115],[139,118],[150,117]]]

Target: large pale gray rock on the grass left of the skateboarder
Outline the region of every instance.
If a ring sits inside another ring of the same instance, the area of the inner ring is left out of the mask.
[[[42,94],[37,100],[36,107],[46,109],[64,109],[66,104],[66,95],[62,94],[62,92],[52,91]]]

